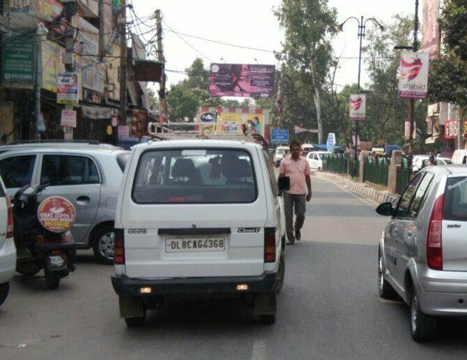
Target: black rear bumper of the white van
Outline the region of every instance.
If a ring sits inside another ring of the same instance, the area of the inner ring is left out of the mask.
[[[226,276],[218,278],[167,278],[141,279],[124,275],[112,276],[112,285],[118,296],[141,297],[153,295],[187,294],[241,294],[245,292],[270,292],[273,290],[276,273],[261,276]],[[237,285],[246,284],[248,290],[237,290]],[[141,287],[151,287],[151,294],[141,294]]]

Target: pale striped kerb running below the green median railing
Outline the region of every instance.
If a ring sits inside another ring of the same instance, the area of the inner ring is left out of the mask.
[[[396,206],[399,201],[399,195],[388,193],[387,191],[376,190],[370,183],[359,183],[353,181],[350,177],[340,174],[333,174],[332,172],[316,172],[316,177],[326,179],[336,183],[339,186],[350,190],[352,193],[365,197],[365,199],[381,204],[383,202],[392,202]]]

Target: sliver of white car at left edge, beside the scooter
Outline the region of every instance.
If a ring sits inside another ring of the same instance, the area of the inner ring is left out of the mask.
[[[10,280],[16,269],[16,248],[13,239],[13,211],[0,179],[0,306],[10,290]]]

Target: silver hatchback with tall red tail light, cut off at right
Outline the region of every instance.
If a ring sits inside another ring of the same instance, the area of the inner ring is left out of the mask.
[[[411,309],[415,341],[431,340],[437,317],[467,318],[467,167],[427,167],[415,175],[379,242],[378,285]]]

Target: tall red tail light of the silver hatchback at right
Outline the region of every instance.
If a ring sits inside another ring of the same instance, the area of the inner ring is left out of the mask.
[[[441,195],[434,202],[427,234],[427,264],[434,270],[443,270],[443,209],[444,195]]]

